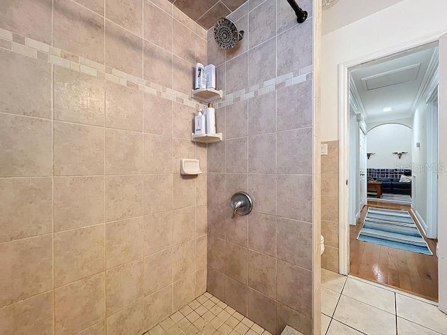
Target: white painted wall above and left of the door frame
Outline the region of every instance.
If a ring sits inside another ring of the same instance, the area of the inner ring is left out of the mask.
[[[343,2],[339,1],[333,8],[323,11],[323,21],[330,15],[331,10],[336,10],[337,6]],[[426,15],[421,17],[420,8],[426,8]],[[402,45],[402,43],[430,34],[447,31],[447,20],[444,15],[446,11],[447,2],[444,0],[432,0],[429,7],[423,0],[404,0],[323,36],[322,141],[338,139],[338,64],[390,49],[395,45]],[[342,15],[339,15],[339,20],[343,20]]]

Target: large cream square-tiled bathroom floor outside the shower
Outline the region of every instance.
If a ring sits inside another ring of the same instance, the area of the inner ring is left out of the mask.
[[[425,299],[321,269],[321,333],[447,335],[447,315]]]

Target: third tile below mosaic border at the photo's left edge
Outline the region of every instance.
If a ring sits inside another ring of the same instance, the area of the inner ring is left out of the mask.
[[[0,179],[0,241],[52,232],[52,179]]]

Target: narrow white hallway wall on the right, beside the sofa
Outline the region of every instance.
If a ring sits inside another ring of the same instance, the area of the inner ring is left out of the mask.
[[[416,148],[416,143],[420,147]],[[421,102],[413,116],[413,207],[427,221],[427,106]]]

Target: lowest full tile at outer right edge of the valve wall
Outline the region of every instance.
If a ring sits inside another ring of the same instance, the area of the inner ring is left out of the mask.
[[[312,318],[312,271],[278,260],[277,300]]]

